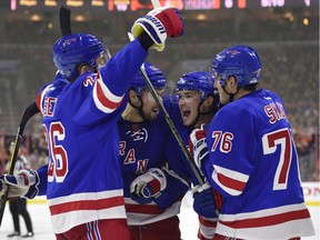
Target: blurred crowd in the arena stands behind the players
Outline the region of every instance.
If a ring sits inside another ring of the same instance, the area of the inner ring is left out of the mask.
[[[207,70],[220,50],[241,43],[256,48],[263,66],[260,87],[278,92],[287,106],[301,179],[319,181],[318,9],[223,11],[197,11],[198,16],[210,17],[201,21],[194,12],[182,12],[184,36],[170,42],[157,57],[150,52],[148,61],[164,72],[167,90],[174,93],[180,76]],[[14,18],[9,10],[0,12],[4,21],[4,30],[0,32],[0,173],[10,159],[10,141],[14,139],[23,109],[36,99],[40,87],[54,78],[52,46],[60,37],[58,12],[47,13],[42,21],[36,22],[26,21],[21,16]],[[96,34],[114,54],[129,41],[127,32],[140,14],[99,13],[88,21],[72,21],[72,30]],[[49,24],[50,19],[56,20]],[[48,161],[40,114],[28,124],[22,152],[32,168]]]

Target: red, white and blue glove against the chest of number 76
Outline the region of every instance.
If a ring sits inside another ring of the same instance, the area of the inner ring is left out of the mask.
[[[206,126],[202,124],[200,129],[194,129],[189,137],[190,152],[200,171],[202,171],[202,161],[209,154],[204,128]]]

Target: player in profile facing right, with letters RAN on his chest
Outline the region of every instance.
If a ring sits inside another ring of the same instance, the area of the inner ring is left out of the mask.
[[[166,77],[148,62],[144,69],[161,99]],[[128,98],[118,128],[131,240],[180,240],[178,213],[189,183],[167,169],[166,148],[177,151],[167,144],[171,130],[141,73],[133,79]],[[166,99],[163,104],[173,121],[181,121],[177,104]]]

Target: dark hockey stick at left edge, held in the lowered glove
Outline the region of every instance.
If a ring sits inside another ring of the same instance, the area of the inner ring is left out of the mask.
[[[18,157],[20,143],[21,143],[21,140],[22,140],[22,134],[23,134],[24,127],[26,127],[27,122],[38,112],[39,112],[39,109],[38,109],[36,102],[32,102],[30,106],[28,106],[24,109],[24,111],[22,113],[22,118],[21,118],[20,124],[18,127],[18,132],[17,132],[17,136],[16,136],[16,139],[14,139],[13,149],[12,149],[12,152],[11,152],[8,174],[13,174],[14,166],[16,166],[16,162],[17,162],[17,157]],[[2,196],[2,198],[1,198],[0,227],[1,227],[1,223],[2,223],[2,219],[3,219],[6,203],[8,201],[9,189],[10,189],[10,186],[8,186],[8,189],[7,189],[6,193],[4,193],[4,196]]]

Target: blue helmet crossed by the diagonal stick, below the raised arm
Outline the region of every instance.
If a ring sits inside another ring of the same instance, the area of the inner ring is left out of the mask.
[[[153,64],[150,64],[149,62],[144,62],[144,69],[154,89],[164,88],[167,79],[160,69]],[[134,88],[134,91],[138,96],[141,96],[142,90],[147,88],[146,80],[140,72],[134,77],[131,86]]]

